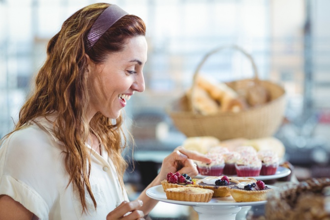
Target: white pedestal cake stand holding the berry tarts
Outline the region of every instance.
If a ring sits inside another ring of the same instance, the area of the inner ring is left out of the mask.
[[[276,187],[268,186],[275,189]],[[146,194],[153,199],[173,203],[177,205],[188,205],[198,213],[199,220],[246,220],[247,212],[254,205],[263,205],[267,201],[258,202],[235,202],[233,197],[212,198],[210,202],[185,202],[169,200],[162,185],[151,187]]]

